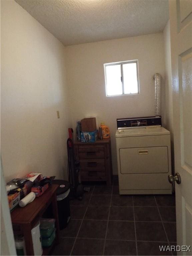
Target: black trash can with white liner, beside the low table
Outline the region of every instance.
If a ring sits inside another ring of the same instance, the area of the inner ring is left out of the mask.
[[[69,192],[70,183],[66,180],[53,180],[52,184],[59,185],[56,190],[59,228],[64,229],[70,220]]]

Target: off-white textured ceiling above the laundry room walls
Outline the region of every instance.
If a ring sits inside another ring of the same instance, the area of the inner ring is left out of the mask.
[[[15,0],[64,45],[160,32],[168,0]]]

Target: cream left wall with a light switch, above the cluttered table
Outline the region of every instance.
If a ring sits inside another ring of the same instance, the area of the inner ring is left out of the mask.
[[[1,1],[5,181],[29,172],[57,178],[66,174],[68,101],[64,46],[15,1]]]

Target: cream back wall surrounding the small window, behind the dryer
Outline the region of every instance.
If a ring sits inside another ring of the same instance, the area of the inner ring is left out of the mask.
[[[155,73],[164,76],[163,33],[66,47],[73,128],[86,115],[110,128],[113,173],[117,174],[116,119],[154,115]],[[106,97],[104,63],[138,59],[140,94]]]

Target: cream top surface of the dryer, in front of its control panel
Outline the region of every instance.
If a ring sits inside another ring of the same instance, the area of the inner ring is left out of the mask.
[[[136,137],[136,136],[151,136],[151,135],[168,135],[170,132],[160,125],[134,127],[127,129],[119,129],[116,131],[115,137]]]

